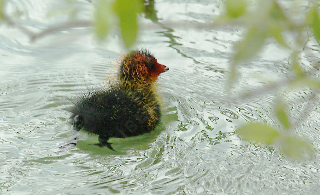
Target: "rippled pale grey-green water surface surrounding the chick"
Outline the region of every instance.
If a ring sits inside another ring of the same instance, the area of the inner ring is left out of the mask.
[[[0,193],[1,194],[317,194],[319,100],[294,134],[308,139],[315,158],[298,162],[275,148],[240,140],[235,130],[251,121],[279,125],[274,94],[238,98],[271,79],[290,76],[290,53],[269,40],[224,88],[232,46],[243,29],[197,29],[221,13],[219,1],[156,1],[157,22],[141,17],[135,47],[145,47],[170,71],[162,74],[161,125],[152,134],[114,139],[117,153],[92,145],[97,136],[80,134],[73,144],[68,123],[72,100],[114,72],[125,52],[118,35],[98,43],[90,28],[63,30],[30,42],[21,30],[0,26]],[[79,17],[90,18],[92,3],[77,1]],[[28,28],[41,30],[66,20],[47,13],[56,1],[9,1]],[[165,21],[171,21],[166,23]],[[150,28],[149,28],[150,27]],[[319,52],[311,44],[304,53]],[[314,72],[319,76],[319,72]],[[290,117],[299,120],[310,91],[289,91]],[[297,114],[298,113],[298,114]]]

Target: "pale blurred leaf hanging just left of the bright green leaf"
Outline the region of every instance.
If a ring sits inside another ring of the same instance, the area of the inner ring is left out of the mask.
[[[103,39],[109,30],[111,9],[107,0],[100,0],[95,10],[94,27],[99,38]]]

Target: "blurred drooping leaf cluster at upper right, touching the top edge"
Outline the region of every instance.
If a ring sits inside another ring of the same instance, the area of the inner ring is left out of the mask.
[[[235,64],[255,55],[268,37],[273,37],[279,44],[288,47],[282,32],[290,30],[293,25],[275,0],[260,1],[256,9],[251,12],[246,11],[246,6],[244,0],[226,1],[226,13],[213,23],[214,26],[236,24],[248,28],[245,37],[235,45],[236,53],[233,58]]]

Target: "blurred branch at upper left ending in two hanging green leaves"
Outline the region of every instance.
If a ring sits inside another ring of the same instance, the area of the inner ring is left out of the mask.
[[[138,35],[138,14],[143,11],[141,0],[99,0],[95,5],[94,20],[73,19],[64,23],[52,25],[40,32],[29,30],[24,25],[14,20],[14,17],[5,13],[6,0],[0,0],[0,20],[9,26],[20,29],[30,37],[30,41],[47,36],[57,31],[71,28],[94,27],[97,36],[103,39],[108,34],[110,27],[118,26],[124,45],[131,47]]]

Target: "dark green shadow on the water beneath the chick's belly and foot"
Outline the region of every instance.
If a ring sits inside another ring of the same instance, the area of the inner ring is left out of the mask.
[[[86,136],[85,140],[77,140],[76,147],[80,150],[89,152],[91,155],[126,155],[130,150],[145,150],[149,149],[150,143],[156,141],[158,135],[164,131],[164,125],[159,124],[154,131],[144,133],[139,136],[127,137],[127,138],[110,138],[108,142],[112,143],[112,148],[109,149],[107,146],[100,147],[97,145],[98,135],[88,133],[80,130],[80,137]]]

